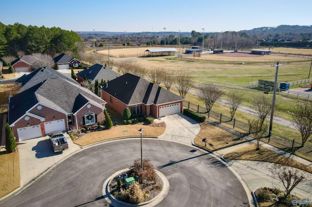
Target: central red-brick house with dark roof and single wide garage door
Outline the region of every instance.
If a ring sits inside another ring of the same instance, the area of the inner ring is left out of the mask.
[[[126,73],[99,88],[102,99],[120,114],[126,107],[131,114],[155,118],[182,112],[183,98],[136,75]]]

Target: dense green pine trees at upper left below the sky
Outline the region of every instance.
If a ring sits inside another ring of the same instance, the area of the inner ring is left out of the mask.
[[[59,27],[5,25],[0,22],[0,57],[45,53],[52,56],[66,51],[78,51],[82,43],[76,32]]]

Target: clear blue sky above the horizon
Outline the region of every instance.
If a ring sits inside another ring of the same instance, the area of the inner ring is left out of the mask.
[[[312,0],[1,0],[5,25],[72,31],[222,32],[312,25]]]

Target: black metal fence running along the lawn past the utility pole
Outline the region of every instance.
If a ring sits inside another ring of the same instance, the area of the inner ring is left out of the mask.
[[[222,113],[216,113],[214,111],[207,112],[206,108],[199,106],[198,104],[192,104],[190,102],[184,101],[183,107],[193,110],[197,113],[204,114],[208,119],[214,119],[219,123],[227,123],[233,127],[233,129],[240,129],[241,132],[250,135],[251,127],[250,124],[246,121],[238,121],[236,119],[231,120],[230,117],[222,115]],[[277,135],[273,132],[270,133],[270,137],[261,138],[261,141],[264,141],[274,147],[282,149],[290,153],[296,153],[303,158],[312,158],[312,146],[304,144],[301,145],[301,142],[298,142],[294,139],[285,138],[280,135]]]

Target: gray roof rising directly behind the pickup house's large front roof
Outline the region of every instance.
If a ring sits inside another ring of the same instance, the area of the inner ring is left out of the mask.
[[[32,86],[35,86],[39,84],[42,81],[45,81],[47,79],[51,78],[60,78],[63,80],[67,80],[73,84],[78,84],[77,81],[75,81],[72,78],[68,78],[67,76],[63,75],[62,73],[58,72],[55,69],[51,69],[49,67],[39,68],[29,74],[24,74],[19,79],[16,80],[16,82],[21,84],[20,92],[23,90],[26,90]]]

